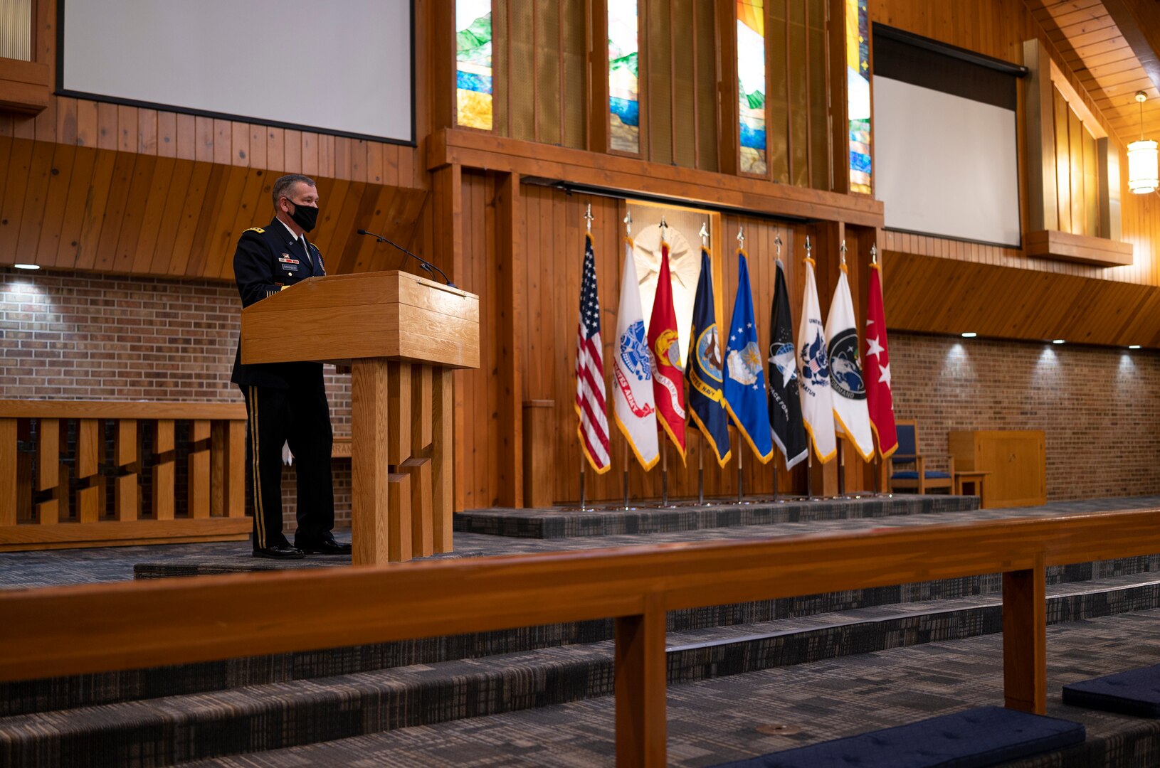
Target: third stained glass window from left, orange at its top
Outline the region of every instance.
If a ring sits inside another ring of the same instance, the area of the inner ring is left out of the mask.
[[[741,171],[766,174],[764,0],[737,0],[737,80]]]

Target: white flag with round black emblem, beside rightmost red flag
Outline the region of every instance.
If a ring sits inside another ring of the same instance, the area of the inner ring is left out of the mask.
[[[834,430],[854,445],[862,459],[873,459],[873,433],[867,410],[867,388],[862,380],[858,357],[858,329],[854,319],[854,299],[846,264],[838,276],[834,300],[826,317],[826,341],[829,353],[829,383],[834,401]]]

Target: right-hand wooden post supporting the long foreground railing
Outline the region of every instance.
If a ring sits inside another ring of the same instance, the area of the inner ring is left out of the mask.
[[[1003,573],[1003,698],[1008,709],[1047,711],[1047,587],[1035,566]]]

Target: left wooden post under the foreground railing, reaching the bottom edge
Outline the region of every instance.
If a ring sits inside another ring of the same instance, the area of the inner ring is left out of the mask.
[[[650,595],[644,614],[616,619],[616,765],[665,765],[665,606]]]

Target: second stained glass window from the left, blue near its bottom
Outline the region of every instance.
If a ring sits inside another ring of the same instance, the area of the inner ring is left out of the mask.
[[[608,0],[608,112],[611,147],[640,152],[637,0]]]

